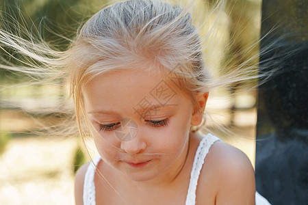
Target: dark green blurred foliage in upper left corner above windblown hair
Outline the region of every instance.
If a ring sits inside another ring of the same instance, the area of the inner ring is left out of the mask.
[[[52,49],[65,51],[78,28],[108,1],[99,0],[1,0],[0,29],[26,40],[44,40]],[[4,48],[16,59],[31,61],[11,48]],[[16,66],[25,66],[0,49],[1,57]],[[0,62],[1,63],[1,62]],[[39,62],[34,62],[39,64]],[[22,73],[0,69],[0,80],[27,81]]]

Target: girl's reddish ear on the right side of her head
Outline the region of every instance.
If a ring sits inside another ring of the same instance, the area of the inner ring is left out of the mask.
[[[198,105],[194,106],[192,120],[190,122],[192,126],[198,126],[199,124],[201,124],[208,96],[208,92],[196,94],[196,101],[198,102]]]

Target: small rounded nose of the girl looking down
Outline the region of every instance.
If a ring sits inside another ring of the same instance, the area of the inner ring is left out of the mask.
[[[138,154],[146,149],[146,142],[138,134],[130,141],[121,141],[120,148],[128,154]]]

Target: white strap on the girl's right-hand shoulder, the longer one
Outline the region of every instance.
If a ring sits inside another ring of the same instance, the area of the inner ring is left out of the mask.
[[[205,160],[205,156],[209,152],[209,148],[220,140],[218,137],[207,134],[199,143],[198,149],[194,156],[194,163],[192,165],[192,172],[190,173],[190,186],[186,196],[186,205],[194,205],[196,203],[196,187],[198,185],[198,178]]]

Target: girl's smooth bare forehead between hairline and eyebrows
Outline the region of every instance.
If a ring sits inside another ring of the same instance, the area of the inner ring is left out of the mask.
[[[121,69],[100,74],[83,87],[85,107],[93,109],[124,109],[187,100],[183,92],[162,72],[149,69]]]

